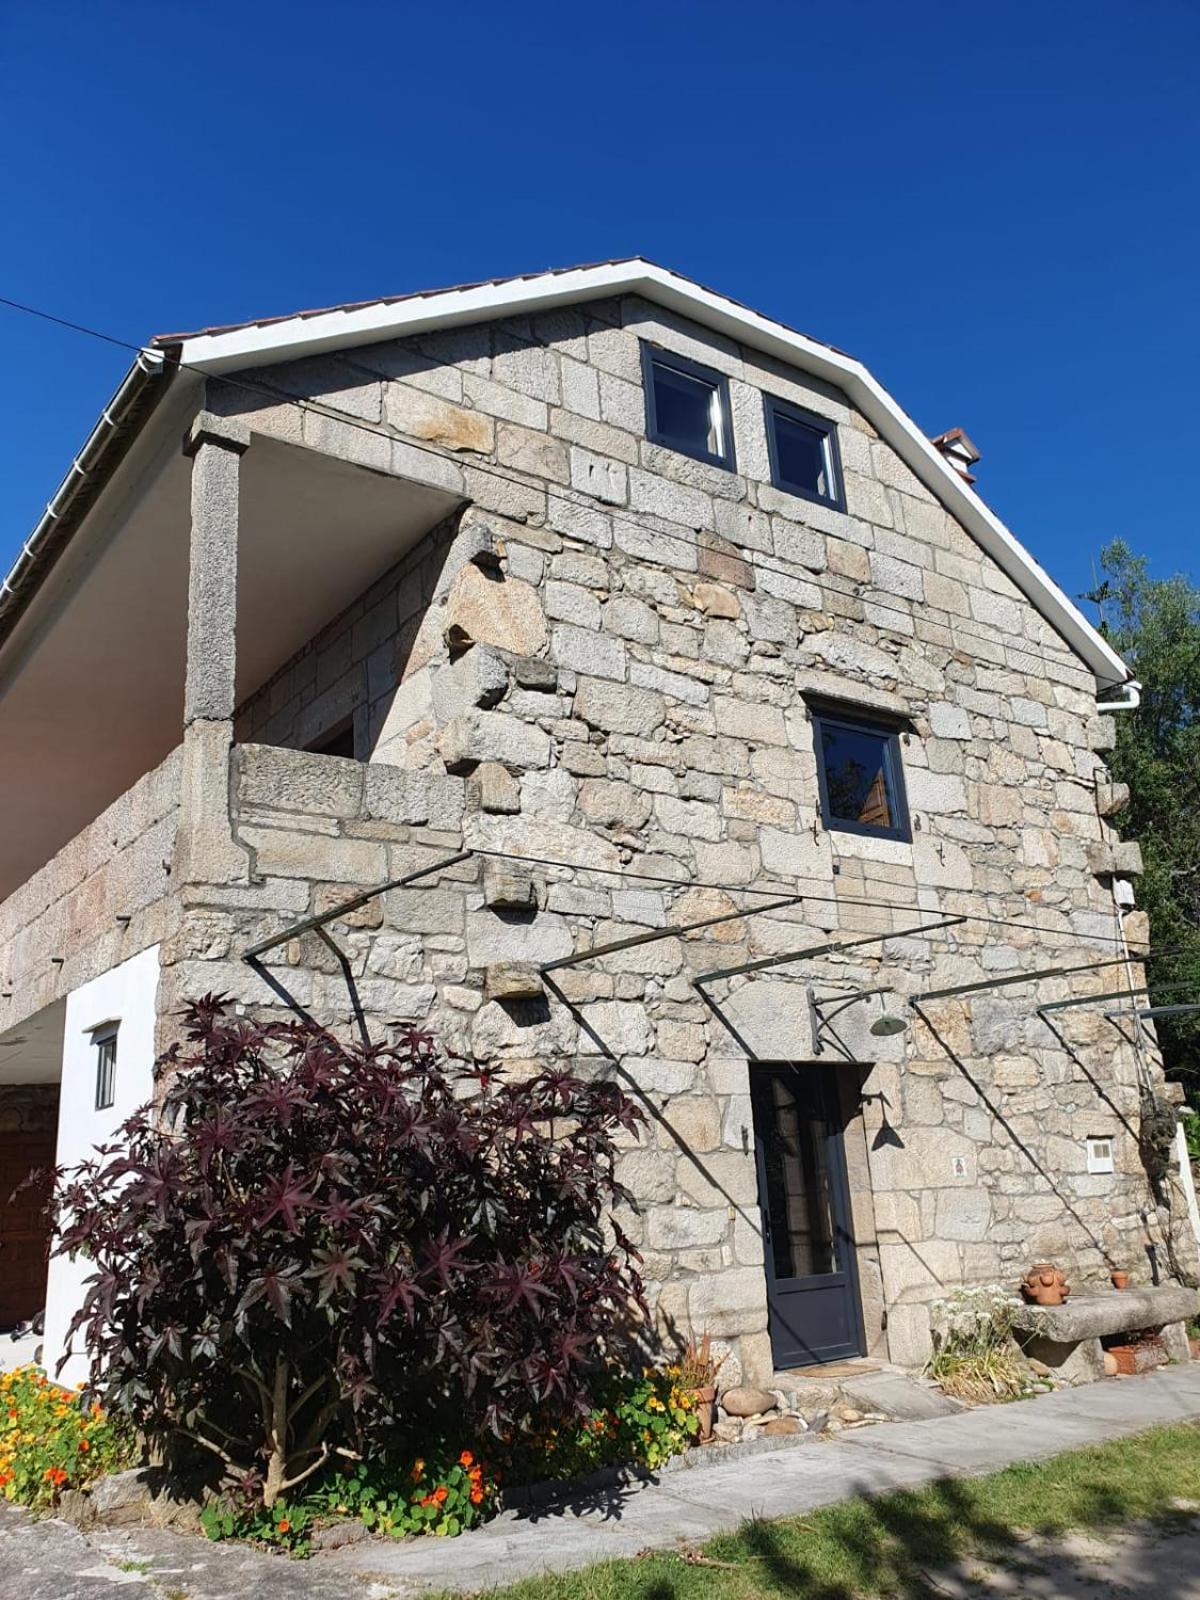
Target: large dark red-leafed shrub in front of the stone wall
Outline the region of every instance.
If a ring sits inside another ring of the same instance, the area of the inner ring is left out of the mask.
[[[72,1336],[174,1459],[262,1504],[331,1458],[501,1437],[589,1405],[643,1326],[608,1082],[507,1082],[427,1035],[342,1045],[206,997],[158,1115],[59,1173],[58,1250],[94,1261]]]

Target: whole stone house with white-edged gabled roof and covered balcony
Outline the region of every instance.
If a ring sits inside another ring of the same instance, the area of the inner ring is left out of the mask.
[[[637,259],[155,339],[0,590],[10,1165],[224,990],[616,1074],[659,1326],[749,1378],[1166,1274],[1162,1067],[1094,998],[1136,685],[976,459]],[[53,1360],[85,1267],[26,1234]]]

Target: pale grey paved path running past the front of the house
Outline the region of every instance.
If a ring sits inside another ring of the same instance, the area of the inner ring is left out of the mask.
[[[248,1594],[259,1600],[370,1600],[488,1589],[533,1573],[669,1549],[680,1539],[707,1539],[749,1517],[789,1517],[854,1494],[978,1475],[1136,1434],[1157,1422],[1197,1418],[1200,1363],[958,1416],[880,1422],[826,1442],[802,1435],[786,1448],[730,1462],[704,1456],[696,1467],[664,1472],[658,1483],[613,1490],[533,1515],[509,1514],[461,1539],[371,1541],[307,1563],[152,1530],[83,1538],[62,1523],[30,1523],[22,1514],[0,1507],[0,1597],[165,1600],[176,1592],[187,1600],[234,1600]],[[1166,1541],[1166,1547],[1184,1562],[1182,1571],[1195,1571],[1184,1555],[1195,1560],[1200,1538],[1181,1536]],[[1154,1571],[1162,1576],[1155,1563]],[[1101,1570],[1107,1570],[1104,1562]],[[1138,1570],[1133,1557],[1130,1570]],[[1051,1597],[1053,1581],[1051,1571],[1046,1578],[1051,1587],[1016,1592]],[[1168,1590],[1150,1582],[1128,1592],[1157,1600],[1168,1594],[1171,1600],[1200,1600],[1200,1586],[1189,1581],[1184,1587],[1182,1579]]]

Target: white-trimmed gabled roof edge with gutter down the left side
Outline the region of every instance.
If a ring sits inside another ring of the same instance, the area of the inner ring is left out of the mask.
[[[710,328],[714,333],[722,333],[842,389],[851,405],[867,418],[920,482],[938,496],[1050,626],[1086,662],[1099,686],[1112,688],[1130,678],[1128,667],[1112,646],[1101,638],[1082,611],[861,362],[830,344],[797,333],[725,294],[717,294],[691,278],[680,277],[680,274],[638,256],[523,277],[491,278],[485,283],[467,283],[448,290],[358,301],[325,310],[304,310],[286,317],[202,328],[194,333],[160,334],[152,342],[152,352],[158,357],[157,366],[163,365],[162,358],[165,357],[166,365],[173,366],[178,362],[184,370],[218,374],[290,362],[326,350],[410,338],[435,328],[488,322],[517,314],[531,315],[614,294],[640,294]],[[128,382],[130,379],[122,386],[123,390]],[[106,408],[104,416],[112,419],[112,406]],[[80,458],[86,454],[90,446],[91,440]],[[53,534],[54,546],[62,542],[66,533],[62,518],[69,491],[72,491],[70,474],[51,501],[53,525],[45,528],[38,525],[18,557],[13,573],[0,587],[0,638],[3,637],[5,611],[10,606],[19,610],[27,602],[29,594],[19,594],[19,590],[27,581],[37,587],[48,566],[48,562],[37,560],[42,534]],[[22,571],[22,562],[29,571]]]

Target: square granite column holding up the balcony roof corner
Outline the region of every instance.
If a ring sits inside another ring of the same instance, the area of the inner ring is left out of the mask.
[[[202,411],[184,440],[192,458],[184,726],[232,722],[237,672],[238,474],[245,422]]]

